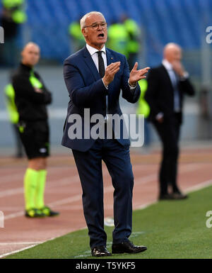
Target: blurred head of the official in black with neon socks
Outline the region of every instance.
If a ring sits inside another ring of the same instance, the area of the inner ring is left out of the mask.
[[[22,63],[29,67],[33,67],[40,59],[40,48],[35,43],[27,43],[21,52]]]

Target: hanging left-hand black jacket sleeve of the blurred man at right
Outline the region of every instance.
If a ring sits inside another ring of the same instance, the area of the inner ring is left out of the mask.
[[[157,116],[157,114],[160,113],[160,110],[158,109],[158,106],[157,106],[159,76],[158,76],[158,72],[155,71],[155,69],[151,69],[151,71],[148,72],[147,82],[148,82],[148,88],[146,90],[144,99],[148,102],[151,108],[152,116]]]

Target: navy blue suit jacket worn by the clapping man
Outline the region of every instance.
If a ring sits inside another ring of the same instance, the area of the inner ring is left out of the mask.
[[[69,128],[73,125],[73,123],[69,122],[70,115],[78,114],[83,119],[84,109],[90,108],[90,116],[96,113],[105,116],[105,98],[108,96],[107,113],[122,116],[122,111],[119,106],[119,94],[121,89],[122,96],[126,101],[134,104],[139,100],[141,94],[139,84],[137,84],[137,87],[133,90],[129,88],[129,65],[126,61],[126,57],[107,48],[106,55],[107,65],[110,65],[111,62],[121,62],[119,72],[115,74],[114,80],[109,84],[108,89],[105,88],[98,69],[95,67],[95,63],[86,46],[64,61],[64,80],[69,91],[70,100],[61,144],[73,150],[85,152],[90,149],[95,139],[70,139]],[[95,123],[91,124],[90,128],[92,128],[94,124]],[[122,132],[122,128],[120,130]],[[83,123],[82,131],[84,131]],[[129,138],[122,138],[122,133],[121,137],[117,140],[124,146],[130,145]]]

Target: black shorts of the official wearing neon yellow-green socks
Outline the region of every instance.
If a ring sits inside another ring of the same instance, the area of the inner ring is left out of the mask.
[[[28,159],[49,156],[49,125],[47,121],[24,121],[18,124],[20,139]]]

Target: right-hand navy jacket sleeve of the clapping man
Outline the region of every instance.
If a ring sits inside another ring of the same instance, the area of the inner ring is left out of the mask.
[[[129,65],[126,61],[126,57],[124,57],[124,72],[122,75],[122,85],[121,85],[122,97],[126,99],[126,101],[129,101],[131,104],[135,104],[136,101],[139,101],[139,97],[141,95],[141,89],[138,83],[136,88],[130,89],[128,80],[129,80]]]

